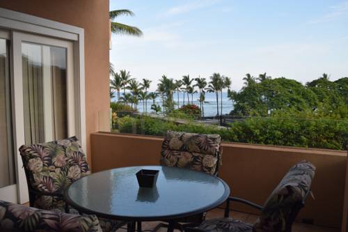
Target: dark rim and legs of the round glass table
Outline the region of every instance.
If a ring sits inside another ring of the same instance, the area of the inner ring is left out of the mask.
[[[112,170],[112,169],[110,169],[110,170]],[[93,174],[91,174],[91,175],[93,175]],[[216,199],[216,201],[214,203],[211,203],[203,208],[200,208],[198,210],[193,210],[191,212],[184,212],[182,214],[176,214],[176,215],[165,215],[165,216],[156,216],[156,217],[124,217],[124,216],[109,215],[109,214],[106,214],[103,212],[96,212],[93,210],[89,210],[88,208],[85,208],[83,206],[79,206],[79,204],[74,203],[74,201],[72,201],[72,199],[68,195],[68,191],[69,191],[70,187],[72,185],[74,185],[74,183],[72,183],[69,187],[67,187],[63,196],[64,196],[66,203],[68,203],[69,206],[72,206],[72,208],[76,209],[80,213],[82,212],[82,213],[86,213],[88,215],[97,215],[97,217],[101,217],[104,219],[130,222],[130,223],[128,223],[128,231],[135,231],[135,222],[166,221],[166,222],[169,222],[168,232],[172,232],[174,227],[175,227],[175,224],[177,224],[175,222],[175,219],[181,218],[181,217],[189,217],[189,216],[193,216],[193,215],[198,215],[198,214],[203,213],[203,212],[207,212],[209,210],[212,210],[213,208],[216,208],[217,206],[220,206],[223,202],[226,201],[226,199],[228,199],[228,196],[230,196],[230,187],[228,186],[228,184],[224,180],[222,180],[221,178],[219,178],[217,176],[212,176],[212,177],[219,179],[219,181],[221,181],[221,183],[223,183],[223,186],[225,187],[225,192],[223,193],[223,195],[219,199]],[[88,178],[88,176],[84,176],[83,178]],[[129,228],[129,227],[131,227],[131,228]]]

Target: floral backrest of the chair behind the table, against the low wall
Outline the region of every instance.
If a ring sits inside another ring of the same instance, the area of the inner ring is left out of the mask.
[[[183,167],[216,175],[221,164],[219,134],[168,131],[161,148],[161,165]]]

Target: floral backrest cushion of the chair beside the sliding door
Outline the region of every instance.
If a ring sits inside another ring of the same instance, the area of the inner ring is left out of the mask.
[[[72,182],[90,173],[76,137],[23,145],[19,152],[29,190],[63,193]]]

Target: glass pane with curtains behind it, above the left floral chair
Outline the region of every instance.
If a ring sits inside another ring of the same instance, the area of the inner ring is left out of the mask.
[[[22,43],[26,144],[68,137],[66,49]]]

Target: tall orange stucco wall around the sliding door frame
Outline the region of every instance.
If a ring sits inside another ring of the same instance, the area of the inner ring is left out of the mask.
[[[87,155],[98,112],[109,110],[109,0],[1,0],[1,8],[84,29]]]

